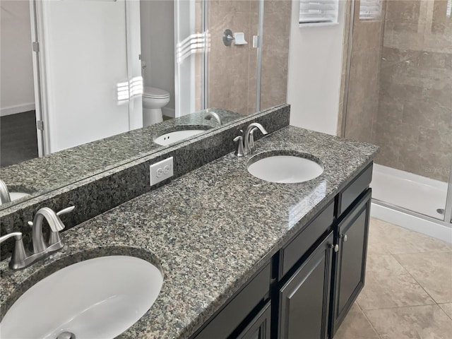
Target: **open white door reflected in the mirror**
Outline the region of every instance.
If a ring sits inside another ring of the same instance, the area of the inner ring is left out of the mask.
[[[36,6],[46,154],[129,131],[125,0]]]

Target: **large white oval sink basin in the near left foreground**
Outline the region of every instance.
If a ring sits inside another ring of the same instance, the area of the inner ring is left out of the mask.
[[[163,277],[133,256],[102,256],[74,263],[32,286],[0,323],[1,338],[114,338],[153,305]]]

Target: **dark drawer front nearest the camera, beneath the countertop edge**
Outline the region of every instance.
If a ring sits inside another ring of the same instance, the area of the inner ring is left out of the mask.
[[[227,338],[259,302],[268,297],[270,278],[268,263],[194,338]]]

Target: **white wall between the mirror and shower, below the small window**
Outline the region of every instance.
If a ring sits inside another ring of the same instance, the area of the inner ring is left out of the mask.
[[[344,13],[340,0],[338,25],[299,28],[299,1],[292,1],[287,80],[292,126],[336,134]]]

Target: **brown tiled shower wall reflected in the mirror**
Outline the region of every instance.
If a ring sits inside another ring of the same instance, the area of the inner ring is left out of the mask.
[[[290,1],[264,4],[261,109],[286,102]],[[225,46],[222,33],[244,32],[248,44]],[[241,114],[256,112],[258,0],[208,1],[208,107]]]

